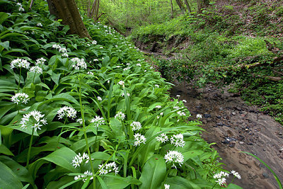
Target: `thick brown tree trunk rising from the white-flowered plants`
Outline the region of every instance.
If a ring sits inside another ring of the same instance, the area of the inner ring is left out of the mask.
[[[47,3],[50,13],[61,18],[63,24],[69,25],[72,34],[91,39],[74,0],[47,0]]]

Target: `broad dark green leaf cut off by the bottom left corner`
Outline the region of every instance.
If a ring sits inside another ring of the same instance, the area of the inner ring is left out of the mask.
[[[23,185],[15,173],[0,161],[0,186],[5,189],[21,189]]]

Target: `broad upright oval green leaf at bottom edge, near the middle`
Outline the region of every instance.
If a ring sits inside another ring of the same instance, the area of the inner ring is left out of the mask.
[[[165,177],[165,160],[163,159],[163,156],[154,155],[151,157],[151,159],[149,159],[149,161],[146,161],[144,168],[142,168],[141,177],[139,178],[141,185],[139,188],[160,188]]]

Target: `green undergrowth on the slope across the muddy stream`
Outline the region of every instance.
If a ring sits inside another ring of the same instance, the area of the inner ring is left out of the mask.
[[[283,54],[282,8],[278,1],[216,1],[202,13],[136,28],[130,38],[149,50],[157,42],[165,55],[177,54],[169,64],[157,60],[166,78],[195,79],[198,86],[234,84],[231,91],[283,122],[283,81],[268,78],[283,73],[282,61],[274,61]]]

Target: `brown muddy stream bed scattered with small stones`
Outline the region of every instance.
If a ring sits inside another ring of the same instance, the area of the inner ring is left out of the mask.
[[[226,164],[226,170],[241,174],[241,180],[233,183],[242,188],[278,188],[272,173],[257,159],[240,151],[255,154],[272,168],[283,181],[283,127],[257,107],[248,106],[236,94],[209,85],[192,88],[189,84],[177,84],[172,96],[185,99],[187,109],[195,120],[202,114],[202,127],[207,131],[202,137],[209,143],[216,142],[214,149]]]

